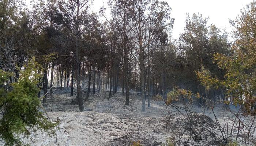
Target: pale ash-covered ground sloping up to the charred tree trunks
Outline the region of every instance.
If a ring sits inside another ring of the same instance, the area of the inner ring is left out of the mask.
[[[147,107],[146,100],[146,112],[141,112],[141,99],[136,93],[130,94],[128,106],[120,92],[113,94],[109,101],[108,93],[90,95],[84,100],[84,111],[79,112],[76,96],[70,96],[69,89],[54,89],[53,96],[48,95],[43,106],[50,120],[61,120],[57,137],[49,138],[38,131],[23,141],[32,146],[130,146],[132,141],[140,141],[144,146],[161,146],[173,135],[172,128],[166,127],[166,118],[175,109],[167,107],[164,101],[151,100],[151,107]],[[210,110],[196,105],[191,108],[214,118]],[[218,116],[221,111],[216,111]],[[171,119],[171,123],[179,122],[179,118]],[[207,141],[189,141],[186,136],[180,145],[210,146]]]

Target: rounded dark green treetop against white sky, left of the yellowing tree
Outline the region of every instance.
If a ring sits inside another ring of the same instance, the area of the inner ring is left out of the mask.
[[[213,55],[222,53],[231,54],[227,32],[218,29],[215,25],[207,25],[209,18],[193,14],[186,20],[185,32],[181,34],[181,51],[186,57],[189,72],[198,70],[201,65],[207,66],[210,71],[221,76],[221,70],[213,64]],[[195,74],[192,74],[195,76]]]

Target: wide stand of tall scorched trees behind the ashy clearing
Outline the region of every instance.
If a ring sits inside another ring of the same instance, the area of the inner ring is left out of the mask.
[[[234,97],[248,95],[248,108],[253,107],[255,1],[230,20],[233,35],[197,13],[187,15],[177,40],[172,39],[174,18],[165,1],[109,0],[111,18],[105,21],[100,20],[105,8],[94,13],[92,5],[91,0],[38,0],[29,8],[22,0],[1,1],[0,69],[14,73],[6,84],[17,82],[20,70],[35,57],[44,68],[37,71],[42,74],[37,86],[44,91],[43,103],[53,86],[70,87],[80,111],[91,93],[106,90],[110,99],[121,91],[129,105],[129,91],[134,91],[141,93],[145,112],[146,100],[150,107],[153,96],[166,100],[167,93],[178,87],[222,103],[244,104]],[[228,66],[234,59],[237,64]],[[195,72],[200,70],[201,74]],[[228,85],[220,81],[228,79]],[[246,86],[249,89],[243,92]],[[204,105],[205,100],[197,103]]]

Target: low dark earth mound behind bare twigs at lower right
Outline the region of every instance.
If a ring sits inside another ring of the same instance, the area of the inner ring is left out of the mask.
[[[218,144],[216,139],[218,139],[221,129],[209,116],[198,113],[191,115],[176,113],[166,116],[165,122],[165,127],[174,134],[172,138],[176,141],[182,137],[191,140],[191,142],[204,143],[204,145]],[[184,143],[184,141],[179,141],[178,143]]]

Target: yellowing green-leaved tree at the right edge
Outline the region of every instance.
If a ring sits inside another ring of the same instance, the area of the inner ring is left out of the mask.
[[[231,22],[236,28],[233,44],[234,54],[227,56],[217,53],[214,61],[225,70],[224,78],[197,72],[204,87],[224,87],[226,103],[241,105],[248,114],[256,114],[256,2],[252,2],[241,11],[241,15]]]

